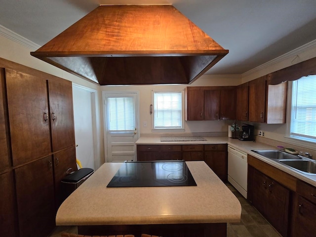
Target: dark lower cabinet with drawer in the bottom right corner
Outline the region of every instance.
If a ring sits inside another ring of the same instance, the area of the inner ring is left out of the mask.
[[[293,198],[292,237],[314,237],[316,233],[316,188],[302,181],[297,182]]]

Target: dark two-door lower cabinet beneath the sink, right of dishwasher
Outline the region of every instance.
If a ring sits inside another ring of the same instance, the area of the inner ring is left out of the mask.
[[[248,166],[252,205],[283,237],[288,236],[290,191],[275,180]]]

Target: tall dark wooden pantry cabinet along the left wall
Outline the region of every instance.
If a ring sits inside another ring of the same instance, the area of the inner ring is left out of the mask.
[[[0,190],[10,191],[0,197],[0,236],[45,237],[63,201],[61,179],[77,170],[72,83],[1,58],[0,76]]]

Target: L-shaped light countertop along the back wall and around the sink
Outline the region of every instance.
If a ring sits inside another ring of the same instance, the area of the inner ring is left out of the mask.
[[[136,145],[189,145],[189,144],[228,144],[255,158],[258,158],[298,179],[305,181],[316,187],[316,175],[304,175],[294,169],[288,168],[272,159],[265,158],[251,150],[276,150],[276,147],[265,143],[253,141],[240,141],[229,137],[203,137],[206,141],[187,141],[187,142],[160,142],[160,136],[143,136],[138,139]]]

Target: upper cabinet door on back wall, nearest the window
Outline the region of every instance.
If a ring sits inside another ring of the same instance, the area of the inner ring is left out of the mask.
[[[204,90],[203,87],[186,87],[186,120],[204,119]]]

